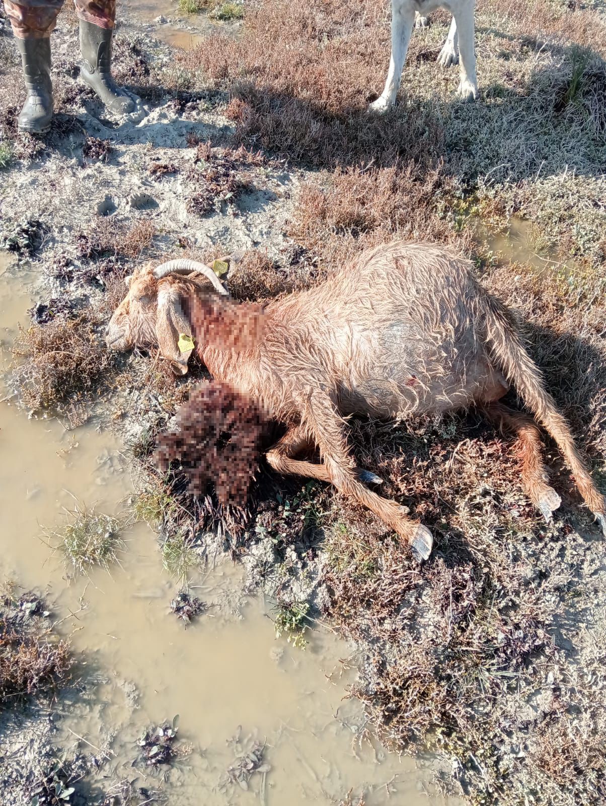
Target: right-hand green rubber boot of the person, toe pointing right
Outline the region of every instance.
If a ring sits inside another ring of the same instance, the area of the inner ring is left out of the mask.
[[[120,89],[111,75],[111,37],[113,31],[80,20],[80,51],[82,79],[98,94],[107,109],[128,114],[135,102]]]

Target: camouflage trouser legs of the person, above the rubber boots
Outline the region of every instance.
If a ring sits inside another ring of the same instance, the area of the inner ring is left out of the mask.
[[[64,0],[4,0],[4,8],[19,39],[47,39],[63,3]],[[116,0],[74,0],[74,4],[80,19],[100,28],[114,27]]]

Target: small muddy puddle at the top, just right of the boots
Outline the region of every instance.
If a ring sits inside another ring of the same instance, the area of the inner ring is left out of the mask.
[[[220,22],[203,12],[185,14],[179,10],[176,0],[125,0],[122,9],[122,16],[130,22],[181,50],[195,48],[205,36],[215,31],[238,35],[242,25],[239,20]]]

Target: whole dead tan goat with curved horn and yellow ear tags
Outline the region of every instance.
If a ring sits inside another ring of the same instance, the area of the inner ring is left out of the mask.
[[[107,329],[108,347],[158,345],[181,374],[195,348],[215,380],[288,426],[266,455],[277,472],[334,484],[382,518],[417,558],[430,555],[430,530],[363,484],[380,480],[355,467],[344,418],[405,420],[475,405],[517,434],[522,484],[549,520],[560,497],[547,484],[533,419],[500,402],[510,384],[558,443],[606,534],[604,498],[512,315],[454,252],[430,243],[384,244],[322,285],[264,308],[230,300],[212,269],[190,260],[139,269],[127,285]],[[297,459],[314,447],[320,463]]]

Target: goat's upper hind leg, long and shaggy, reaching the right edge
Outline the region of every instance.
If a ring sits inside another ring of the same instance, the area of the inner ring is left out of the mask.
[[[606,529],[604,498],[575,446],[570,427],[547,392],[541,371],[526,351],[511,315],[493,297],[486,300],[486,337],[492,360],[509,383],[517,388],[537,421],[554,438],[575,477],[579,492],[598,517],[602,529]]]

